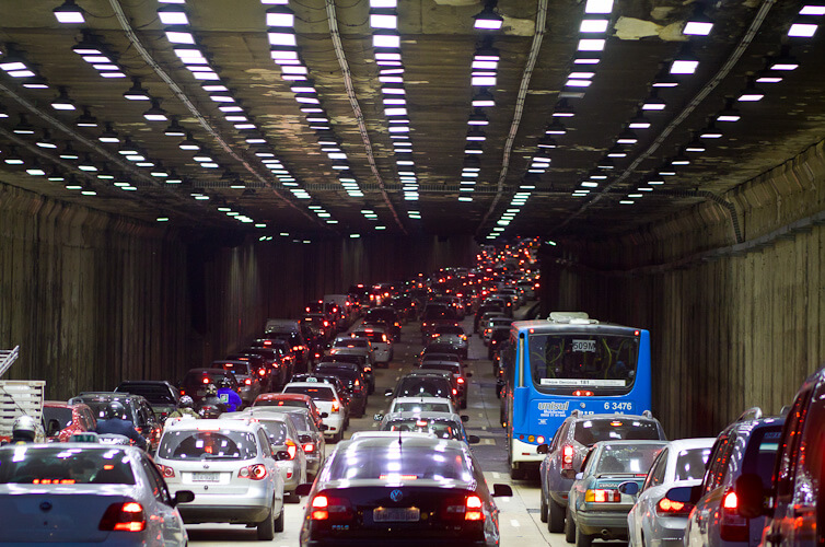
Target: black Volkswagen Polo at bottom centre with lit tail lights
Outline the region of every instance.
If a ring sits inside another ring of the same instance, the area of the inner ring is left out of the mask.
[[[499,545],[499,510],[461,442],[420,433],[356,433],[338,444],[309,494],[302,547]]]

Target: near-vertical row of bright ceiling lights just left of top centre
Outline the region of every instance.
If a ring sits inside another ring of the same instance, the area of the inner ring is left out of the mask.
[[[407,216],[413,220],[420,220],[421,212],[417,205],[414,205],[420,197],[420,187],[413,160],[397,3],[397,0],[370,0],[370,27],[375,65],[379,67],[384,116],[390,126],[390,139],[395,152],[398,181],[402,184],[404,200],[409,202]]]

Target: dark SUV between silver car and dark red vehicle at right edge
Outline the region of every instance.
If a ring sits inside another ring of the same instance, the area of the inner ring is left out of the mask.
[[[751,408],[717,437],[701,485],[667,491],[671,500],[696,505],[685,528],[685,547],[759,544],[765,516],[747,519],[740,513],[736,480],[743,474],[755,475],[760,494],[770,488],[783,422],[785,418],[763,418],[759,408]]]

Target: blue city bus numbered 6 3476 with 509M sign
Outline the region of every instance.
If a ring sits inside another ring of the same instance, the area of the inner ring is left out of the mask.
[[[600,323],[583,312],[514,322],[501,354],[506,381],[501,421],[510,475],[537,468],[573,409],[582,414],[650,410],[650,333]]]

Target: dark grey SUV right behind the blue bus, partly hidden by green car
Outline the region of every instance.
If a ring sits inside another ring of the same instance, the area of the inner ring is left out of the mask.
[[[584,456],[596,442],[665,439],[662,424],[648,410],[641,416],[585,415],[573,410],[561,422],[549,445],[539,444],[537,447],[539,454],[547,454],[538,467],[542,479],[542,522],[547,523],[550,532],[558,533],[565,529],[565,511],[570,488],[576,480],[576,474],[581,469]]]

